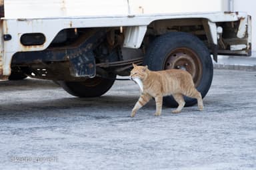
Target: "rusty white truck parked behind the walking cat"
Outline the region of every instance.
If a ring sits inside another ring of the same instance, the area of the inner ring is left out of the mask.
[[[159,11],[147,13],[143,5],[134,10],[135,0],[1,0],[0,77],[53,80],[89,98],[103,95],[136,63],[187,70],[204,97],[213,79],[211,55],[215,61],[218,54],[251,55],[247,13],[171,13],[175,7],[160,1],[153,4]],[[167,5],[170,13],[161,13]],[[171,96],[164,104],[177,106]]]

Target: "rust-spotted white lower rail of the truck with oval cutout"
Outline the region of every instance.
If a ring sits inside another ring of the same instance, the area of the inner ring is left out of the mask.
[[[205,18],[212,23],[219,21],[237,21],[239,17],[247,17],[247,13],[187,13],[173,15],[140,15],[136,17],[56,17],[46,19],[3,19],[3,34],[10,34],[11,41],[5,41],[5,52],[43,50],[47,48],[55,35],[62,29],[80,27],[133,27],[146,26],[155,20]],[[17,29],[19,28],[19,29]],[[143,29],[141,29],[142,31]],[[18,44],[21,35],[25,33],[43,33],[45,44],[41,46],[22,46]]]

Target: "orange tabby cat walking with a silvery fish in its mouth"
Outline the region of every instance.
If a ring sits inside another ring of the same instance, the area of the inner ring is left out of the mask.
[[[199,110],[203,110],[203,100],[200,92],[195,89],[191,74],[185,70],[162,70],[151,71],[147,66],[137,66],[133,64],[131,70],[131,80],[137,82],[141,88],[141,96],[135,104],[131,117],[135,116],[137,110],[147,104],[151,98],[155,98],[155,116],[160,116],[162,111],[163,96],[173,95],[179,104],[173,113],[181,112],[185,106],[183,95],[197,98]]]

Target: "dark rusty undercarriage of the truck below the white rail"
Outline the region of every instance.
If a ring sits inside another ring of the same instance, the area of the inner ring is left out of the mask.
[[[218,29],[217,44],[213,43],[211,26],[207,19],[153,21],[147,26],[139,48],[123,47],[131,27],[63,29],[45,50],[15,52],[11,68],[13,72],[23,72],[34,78],[49,80],[81,81],[101,74],[106,76],[107,72],[127,76],[132,63],[143,62],[151,42],[170,32],[195,35],[205,43],[215,60],[217,54],[235,53],[247,56],[251,52],[249,33],[245,31],[246,35],[237,38],[243,20],[215,23]],[[44,44],[43,36],[39,33],[24,34],[21,44],[27,48]],[[179,67],[181,66],[173,66]]]

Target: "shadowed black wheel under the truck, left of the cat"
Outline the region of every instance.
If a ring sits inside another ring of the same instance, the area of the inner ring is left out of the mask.
[[[58,84],[73,96],[93,98],[105,94],[114,84],[115,77],[115,74],[109,74],[109,78],[95,77],[83,82],[58,81]]]

